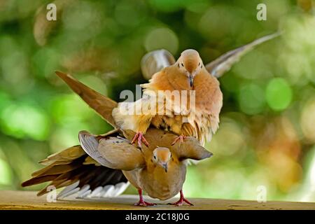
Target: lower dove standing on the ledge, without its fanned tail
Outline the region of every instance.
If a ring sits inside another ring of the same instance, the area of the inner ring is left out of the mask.
[[[186,202],[192,205],[182,191],[186,160],[203,160],[212,154],[193,137],[181,146],[172,146],[175,134],[152,127],[144,135],[151,144],[141,150],[130,144],[134,132],[123,131],[123,136],[126,139],[110,136],[99,139],[85,131],[79,133],[80,144],[91,158],[105,167],[123,170],[127,180],[138,189],[139,202],[135,205],[153,205],[144,201],[142,190],[159,200],[168,200],[180,193],[179,201],[174,204]]]

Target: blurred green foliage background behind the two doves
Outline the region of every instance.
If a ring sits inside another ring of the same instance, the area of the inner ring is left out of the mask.
[[[57,21],[45,19],[48,3]],[[267,20],[256,20],[265,3]],[[0,189],[78,144],[77,133],[110,130],[55,76],[68,71],[119,100],[144,83],[141,57],[195,48],[204,62],[255,38],[280,38],[248,53],[220,78],[221,127],[214,157],[188,169],[189,197],[315,202],[315,17],[311,0],[0,1]],[[34,186],[28,189],[38,189]],[[129,189],[129,192],[132,188]]]

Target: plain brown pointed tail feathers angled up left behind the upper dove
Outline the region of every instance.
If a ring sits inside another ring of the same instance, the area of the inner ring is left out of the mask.
[[[117,102],[114,102],[109,97],[92,90],[83,83],[70,76],[69,74],[56,71],[57,76],[62,78],[64,82],[71,87],[94,111],[99,113],[113,127],[116,127],[115,120],[111,116],[111,111],[117,106]]]

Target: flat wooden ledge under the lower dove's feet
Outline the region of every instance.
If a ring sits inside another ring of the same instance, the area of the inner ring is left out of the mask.
[[[258,203],[255,201],[244,200],[215,200],[204,198],[191,198],[195,206],[174,207],[168,205],[168,202],[175,202],[177,199],[161,202],[146,198],[148,202],[155,202],[158,205],[154,207],[135,207],[133,204],[137,202],[137,195],[121,195],[113,198],[93,198],[90,200],[77,200],[71,197],[57,202],[47,202],[46,196],[37,197],[32,191],[0,191],[0,209],[104,209],[104,210],[128,210],[128,209],[204,209],[204,210],[278,210],[278,209],[311,209],[315,210],[315,203],[309,202],[265,202]]]

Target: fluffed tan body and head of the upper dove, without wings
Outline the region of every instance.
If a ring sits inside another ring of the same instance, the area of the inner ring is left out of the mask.
[[[162,130],[169,130],[183,136],[192,136],[202,143],[210,139],[211,134],[216,132],[219,123],[219,113],[223,104],[223,96],[218,80],[211,76],[202,64],[202,59],[197,51],[185,50],[176,64],[155,73],[149,83],[141,85],[144,87],[144,96],[134,103],[120,103],[113,110],[113,118],[117,125],[123,129],[146,133],[152,124]],[[163,99],[157,100],[152,97],[154,93],[163,91]],[[179,91],[180,100],[172,99],[165,91]],[[190,105],[190,97],[194,97],[195,107]],[[182,94],[187,93],[186,104],[183,104]],[[148,97],[149,96],[149,97]],[[155,113],[150,111],[152,101],[157,106]],[[165,104],[170,103],[172,107],[167,108]],[[141,114],[127,114],[126,108],[133,108],[141,104]],[[159,105],[158,105],[159,104]],[[126,107],[127,106],[127,107]],[[169,114],[166,114],[166,110]],[[164,113],[163,113],[164,112]]]

